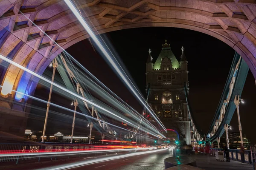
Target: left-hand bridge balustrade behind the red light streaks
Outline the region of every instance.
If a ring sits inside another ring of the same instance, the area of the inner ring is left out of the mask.
[[[56,153],[63,154],[61,156],[67,156],[70,158],[72,155],[72,151],[86,151],[86,150],[106,150],[108,151],[106,147],[106,144],[77,144],[77,143],[22,143],[22,144],[10,144],[10,143],[0,143],[0,162],[6,162],[6,161],[16,161],[16,164],[18,161],[26,161],[26,160],[32,160],[32,159],[57,159]],[[111,148],[113,149],[113,148]],[[65,153],[65,152],[70,152]],[[15,154],[16,156],[1,156],[1,154]],[[29,154],[26,156],[18,156],[19,153],[35,153]],[[52,153],[47,154],[46,153]],[[84,154],[90,154],[90,153],[84,153]],[[93,153],[96,155],[96,153]],[[102,154],[102,153],[97,153]]]

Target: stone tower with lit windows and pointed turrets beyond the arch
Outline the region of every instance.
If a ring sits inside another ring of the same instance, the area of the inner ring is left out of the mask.
[[[167,129],[179,133],[180,141],[191,144],[191,130],[188,118],[184,83],[188,88],[188,69],[184,48],[180,62],[172,53],[170,45],[163,44],[155,63],[151,50],[146,62],[146,86],[149,87],[148,104],[151,105]]]

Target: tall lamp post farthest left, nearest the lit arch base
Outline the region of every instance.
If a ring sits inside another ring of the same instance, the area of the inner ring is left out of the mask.
[[[52,72],[52,82],[53,82],[54,81],[56,67],[58,67],[58,63],[57,63],[56,59],[53,59],[52,63],[49,66],[53,67],[53,72]],[[46,110],[46,115],[45,115],[45,120],[44,120],[44,131],[43,131],[42,142],[44,142],[45,130],[46,130],[47,119],[48,119],[48,114],[49,114],[49,108],[50,108],[50,103],[51,103],[51,96],[52,96],[52,84],[51,84],[51,87],[50,87],[49,98],[48,98],[48,102],[47,102],[47,110]]]

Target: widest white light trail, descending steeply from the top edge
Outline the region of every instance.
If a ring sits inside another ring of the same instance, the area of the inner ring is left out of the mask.
[[[101,44],[101,42],[99,41],[99,39],[96,37],[96,35],[93,33],[93,31],[91,30],[90,26],[88,26],[88,24],[86,23],[86,21],[84,20],[84,18],[81,16],[81,14],[79,13],[79,11],[76,9],[76,7],[74,6],[74,4],[70,1],[70,0],[64,0],[64,2],[67,4],[67,6],[70,8],[70,10],[73,12],[73,14],[76,16],[76,18],[79,20],[79,22],[81,23],[81,25],[84,27],[84,29],[87,31],[87,33],[90,35],[90,37],[93,39],[93,41],[96,43],[96,45],[99,47],[99,49],[102,51],[102,53],[104,54],[104,56],[108,59],[108,61],[111,63],[111,65],[113,66],[113,68],[116,70],[116,72],[119,74],[119,76],[122,78],[122,80],[125,82],[126,85],[128,85],[128,87],[130,88],[130,90],[134,93],[134,95],[137,97],[137,99],[139,99],[139,101],[145,106],[145,108],[147,108],[147,110],[151,113],[151,116],[154,117],[154,119],[160,124],[161,127],[163,127],[163,129],[167,132],[166,128],[163,126],[162,122],[160,121],[160,119],[158,119],[157,116],[155,116],[155,113],[152,111],[152,109],[148,106],[148,104],[146,105],[145,103],[147,103],[145,101],[145,99],[143,98],[143,96],[141,96],[140,92],[137,90],[137,88],[134,86],[134,84],[131,82],[131,80],[128,78],[128,76],[125,74],[125,71],[122,70],[121,67],[119,67],[116,62],[113,60],[113,58],[111,57],[111,55],[108,53],[108,51],[103,47],[103,45]],[[103,41],[104,42],[104,41]],[[106,44],[105,44],[106,45]],[[107,46],[107,45],[106,45]],[[108,47],[108,46],[107,46]],[[111,51],[110,51],[111,52]],[[112,54],[112,53],[111,53]],[[113,56],[113,54],[112,54]],[[114,56],[113,56],[114,57]],[[118,63],[118,62],[117,62]],[[122,71],[121,71],[122,70]],[[129,81],[128,81],[129,80]],[[135,91],[136,89],[136,91]],[[144,100],[144,101],[143,101]]]

